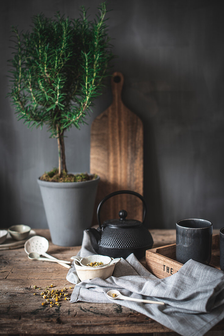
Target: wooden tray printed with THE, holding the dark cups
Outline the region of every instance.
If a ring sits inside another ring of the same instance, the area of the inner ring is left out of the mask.
[[[149,272],[159,279],[170,277],[183,266],[176,261],[176,244],[146,250],[145,262]],[[212,237],[212,258],[209,265],[220,269],[219,235]]]

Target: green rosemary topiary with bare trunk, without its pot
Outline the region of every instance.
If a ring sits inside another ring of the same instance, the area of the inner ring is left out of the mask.
[[[58,143],[58,174],[67,173],[64,133],[86,123],[93,99],[102,92],[111,59],[110,38],[105,24],[106,6],[91,21],[82,7],[79,19],[59,12],[54,18],[33,17],[31,32],[12,27],[14,56],[9,96],[18,120],[28,127],[43,127]]]

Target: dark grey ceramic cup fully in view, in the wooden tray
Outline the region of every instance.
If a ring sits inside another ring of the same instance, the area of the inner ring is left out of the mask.
[[[212,223],[204,219],[182,219],[176,223],[176,259],[209,264],[212,256]]]

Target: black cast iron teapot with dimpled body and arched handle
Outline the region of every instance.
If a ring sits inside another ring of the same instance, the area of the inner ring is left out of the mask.
[[[120,219],[108,219],[100,223],[100,210],[105,201],[110,197],[119,194],[135,195],[143,203],[143,220],[128,219],[127,212],[121,210],[119,212]],[[92,247],[96,253],[107,255],[113,258],[123,257],[127,258],[130,253],[134,253],[139,259],[145,255],[145,251],[150,249],[153,244],[152,236],[148,229],[143,225],[146,214],[146,204],[144,198],[130,190],[120,190],[107,195],[98,205],[97,220],[99,227],[87,229]]]

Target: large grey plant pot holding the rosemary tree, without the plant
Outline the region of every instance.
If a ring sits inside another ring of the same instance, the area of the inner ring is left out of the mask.
[[[99,177],[84,182],[37,180],[52,243],[81,245],[83,230],[91,226]]]

